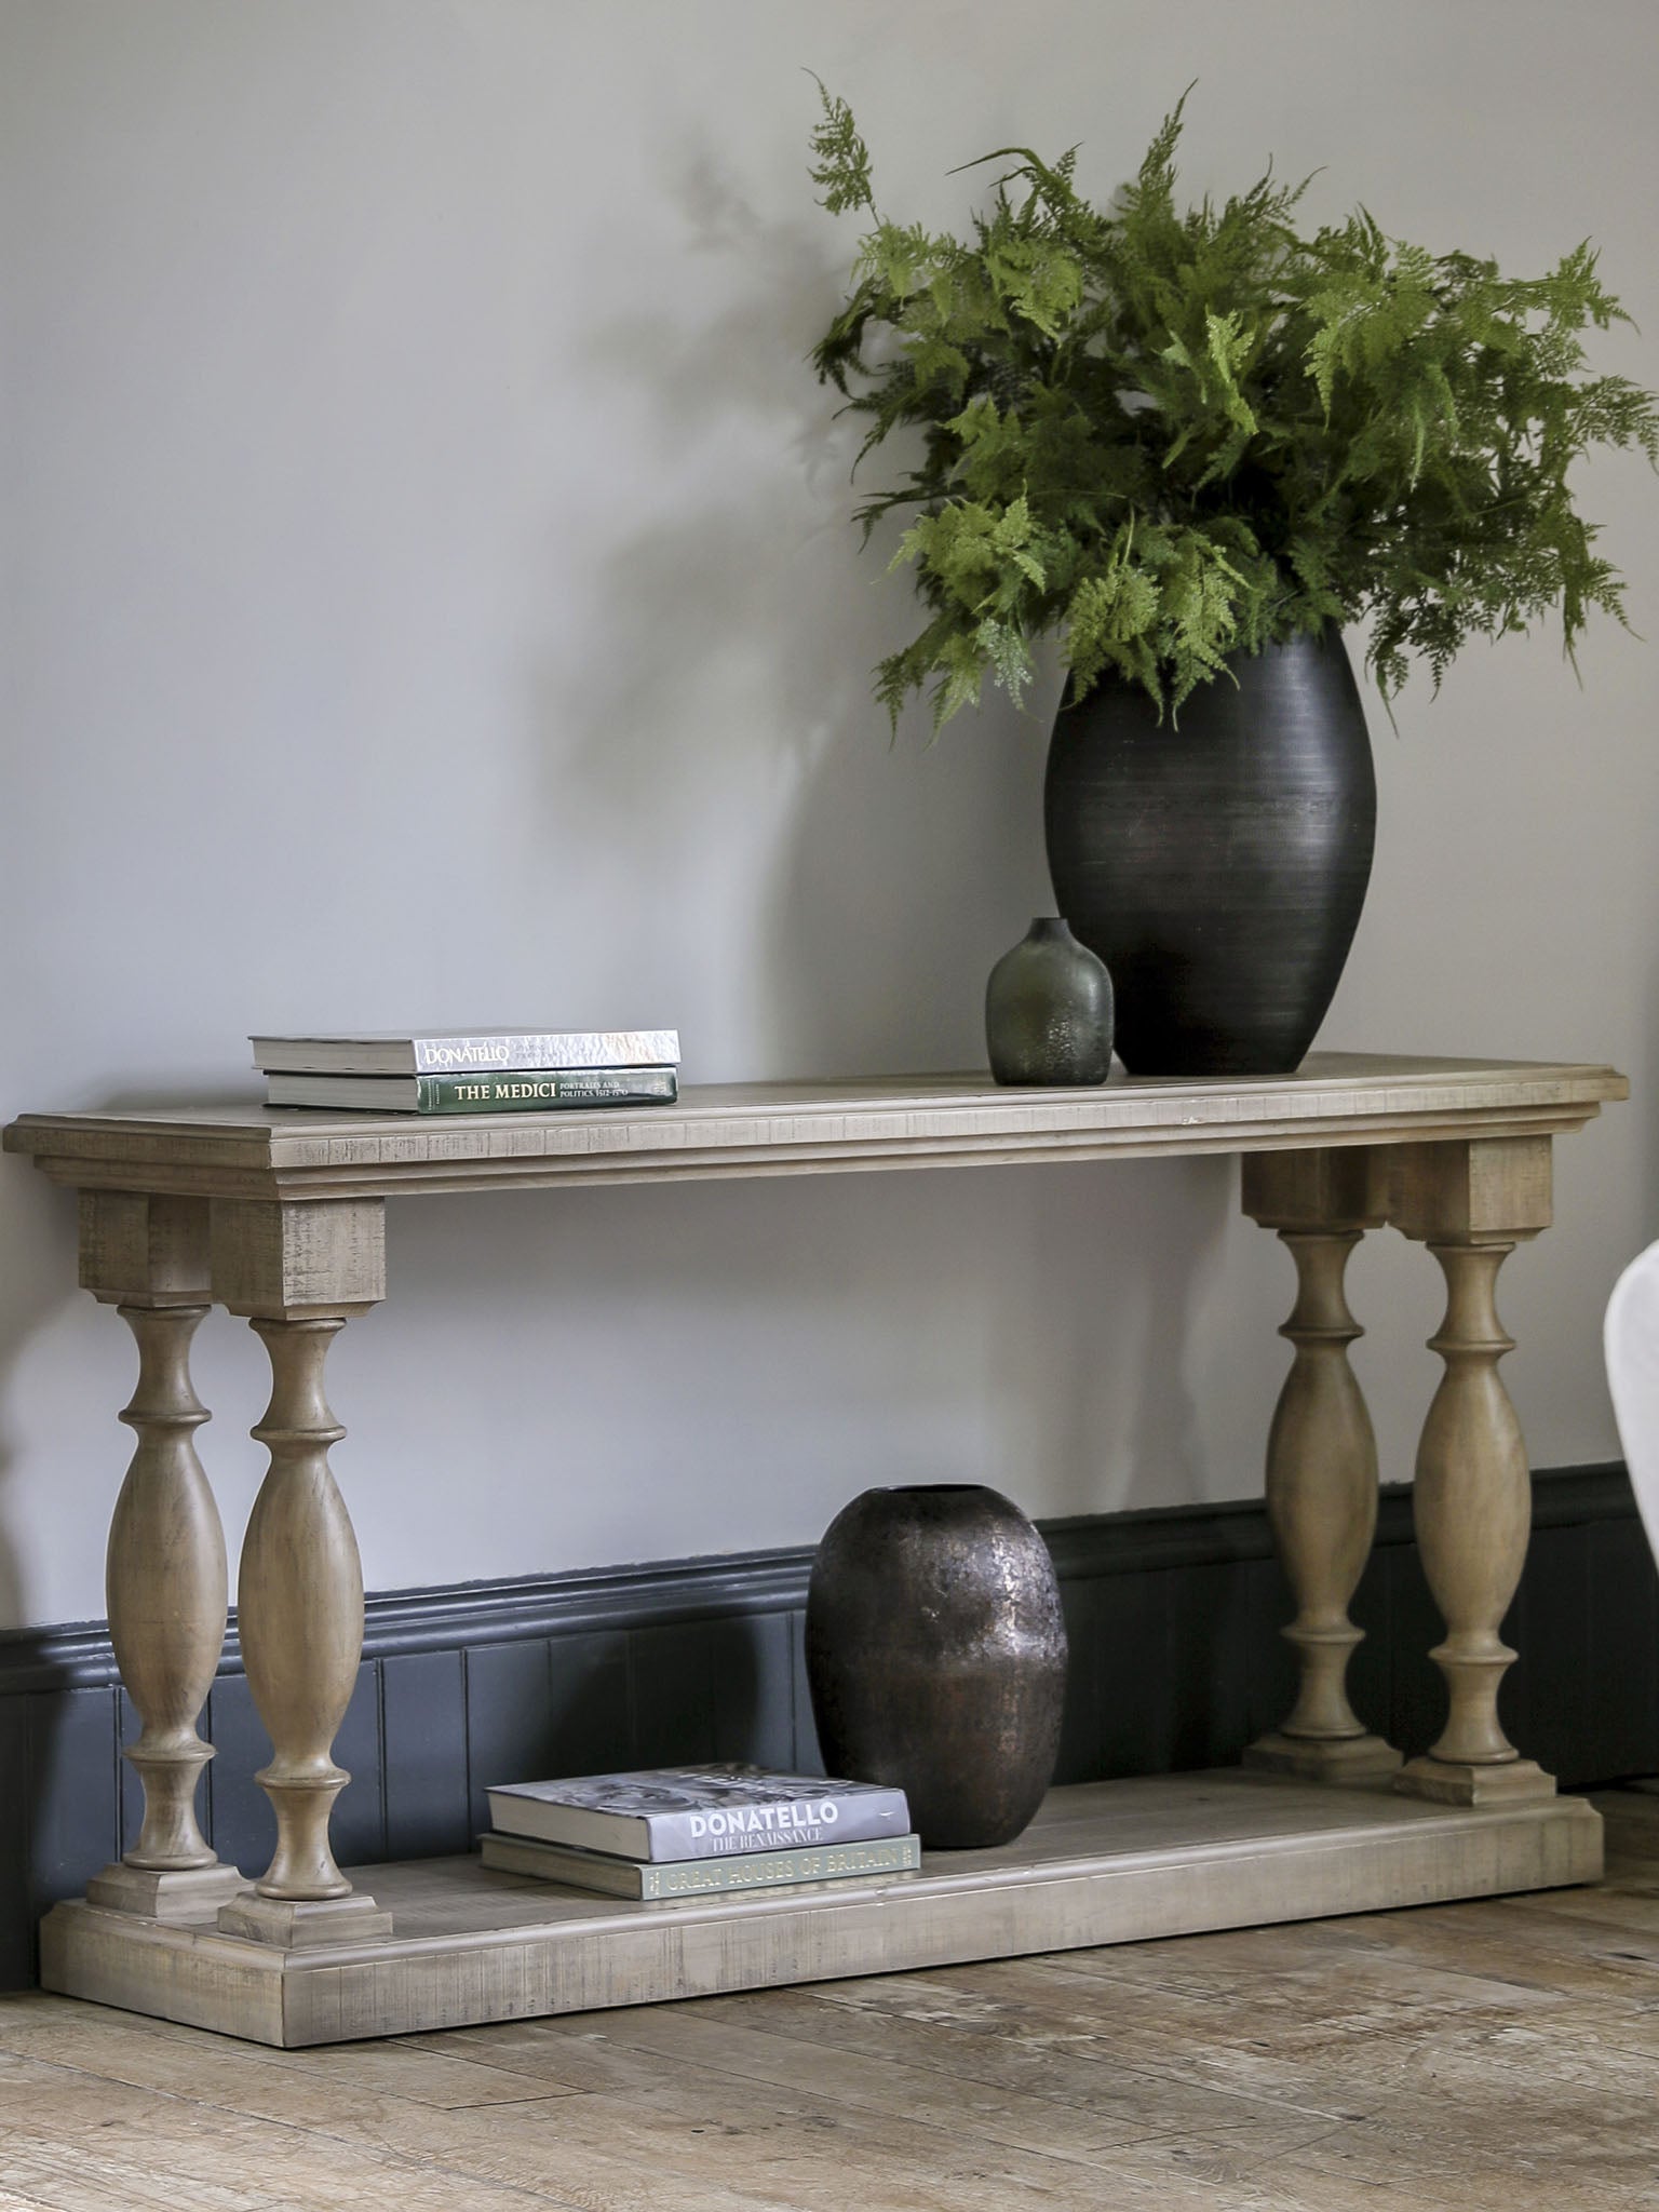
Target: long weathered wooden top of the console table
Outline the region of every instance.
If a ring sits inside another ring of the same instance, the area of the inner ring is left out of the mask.
[[[1540,1137],[1630,1086],[1615,1068],[1312,1053],[1294,1075],[1113,1075],[1088,1091],[984,1073],[695,1084],[675,1106],[376,1115],[259,1104],[29,1113],[4,1133],[55,1183],[199,1197],[363,1199],[403,1190],[821,1175],[1338,1144]]]

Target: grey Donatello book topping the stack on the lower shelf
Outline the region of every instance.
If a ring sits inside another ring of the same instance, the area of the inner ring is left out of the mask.
[[[489,1816],[504,1836],[661,1863],[907,1836],[902,1790],[774,1774],[737,1763],[498,1783]]]

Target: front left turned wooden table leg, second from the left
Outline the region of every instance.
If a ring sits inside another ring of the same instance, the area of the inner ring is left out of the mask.
[[[334,1801],[352,1778],[332,1750],[363,1655],[363,1568],[327,1460],[345,1431],[323,1363],[345,1321],[385,1292],[383,1208],[215,1201],[212,1281],[250,1316],[272,1374],[252,1431],[270,1469],[243,1537],[237,1626],[272,1741],[257,1778],[276,1814],[276,1851],[219,1927],[276,1944],[356,1942],[389,1933],[392,1916],[352,1887],[330,1845]]]

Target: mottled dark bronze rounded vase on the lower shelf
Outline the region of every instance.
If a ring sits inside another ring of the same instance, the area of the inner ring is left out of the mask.
[[[807,1683],[830,1774],[900,1787],[929,1849],[1011,1843],[1060,1754],[1048,1546],[998,1491],[865,1491],[812,1568]]]

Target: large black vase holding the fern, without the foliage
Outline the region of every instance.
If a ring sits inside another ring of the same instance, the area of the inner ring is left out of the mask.
[[[1115,677],[1055,719],[1048,869],[1130,1075],[1287,1075],[1365,905],[1376,776],[1340,633],[1228,668],[1179,719]]]

